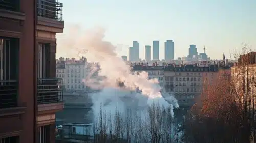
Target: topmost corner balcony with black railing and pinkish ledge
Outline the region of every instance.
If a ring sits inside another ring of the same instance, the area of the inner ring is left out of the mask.
[[[37,0],[37,24],[37,30],[62,33],[62,4],[50,0]]]

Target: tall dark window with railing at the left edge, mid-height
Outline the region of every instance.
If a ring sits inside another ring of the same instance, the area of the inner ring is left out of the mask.
[[[0,37],[0,108],[17,103],[19,40]]]

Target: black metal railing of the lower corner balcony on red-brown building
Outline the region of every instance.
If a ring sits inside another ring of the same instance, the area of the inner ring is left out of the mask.
[[[37,79],[37,104],[63,102],[63,87],[62,78]]]

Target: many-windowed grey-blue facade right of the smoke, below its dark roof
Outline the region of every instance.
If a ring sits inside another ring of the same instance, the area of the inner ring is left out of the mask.
[[[202,92],[203,83],[214,81],[218,74],[217,65],[199,67],[196,65],[174,66],[164,69],[165,88],[169,95],[175,96],[180,106],[191,106]]]

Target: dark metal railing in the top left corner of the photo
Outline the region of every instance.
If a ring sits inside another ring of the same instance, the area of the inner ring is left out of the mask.
[[[19,10],[19,0],[0,0],[0,9],[6,9],[11,11]]]

